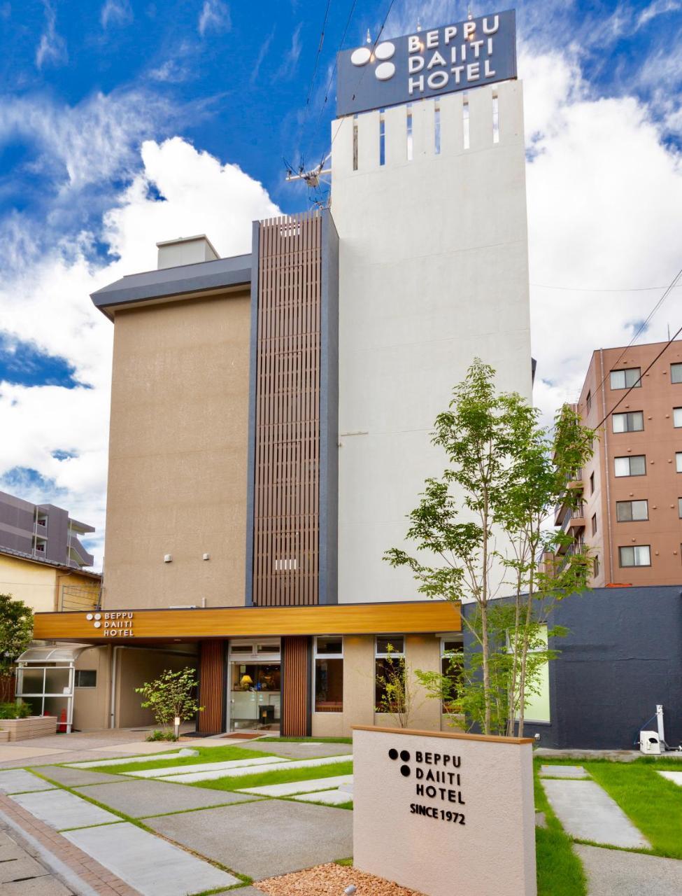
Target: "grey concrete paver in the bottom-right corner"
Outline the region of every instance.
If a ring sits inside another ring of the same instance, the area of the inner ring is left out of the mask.
[[[588,896],[679,896],[682,862],[675,858],[575,844],[587,875]]]

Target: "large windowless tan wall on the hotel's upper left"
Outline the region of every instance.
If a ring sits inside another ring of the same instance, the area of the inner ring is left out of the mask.
[[[115,314],[107,609],[243,604],[249,304]]]

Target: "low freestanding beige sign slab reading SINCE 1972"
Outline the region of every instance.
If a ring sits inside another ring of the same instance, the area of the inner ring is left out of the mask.
[[[425,896],[536,896],[533,740],[354,728],[354,866]]]

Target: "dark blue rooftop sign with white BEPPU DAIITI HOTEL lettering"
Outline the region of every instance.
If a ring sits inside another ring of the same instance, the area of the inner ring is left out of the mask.
[[[337,58],[337,116],[510,78],[516,78],[514,10],[344,50]]]

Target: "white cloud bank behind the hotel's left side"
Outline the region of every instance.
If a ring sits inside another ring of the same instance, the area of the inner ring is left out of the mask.
[[[4,332],[31,340],[75,367],[91,388],[0,383],[0,478],[29,468],[54,481],[50,495],[27,486],[23,494],[64,506],[98,529],[101,560],[107,475],[107,418],[113,327],[90,301],[90,293],[126,273],[156,267],[161,239],[209,234],[223,255],[251,250],[251,220],[279,213],[263,187],[240,168],[196,151],[179,137],[145,142],[142,170],[106,215],[100,239],[120,255],[92,264],[87,237],[64,244],[0,283]],[[165,201],[149,195],[153,185]],[[53,452],[75,457],[58,461]],[[16,490],[16,489],[15,489]]]

